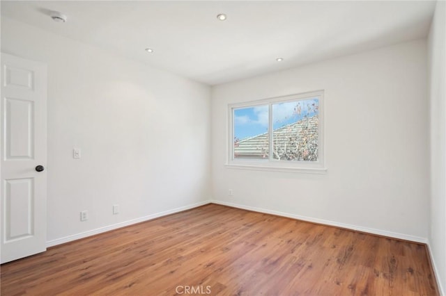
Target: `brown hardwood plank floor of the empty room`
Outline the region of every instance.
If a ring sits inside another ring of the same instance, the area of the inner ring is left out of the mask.
[[[1,295],[439,295],[426,247],[216,204],[1,265]]]

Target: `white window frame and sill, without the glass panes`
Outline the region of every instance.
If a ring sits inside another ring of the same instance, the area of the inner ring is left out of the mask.
[[[319,100],[318,107],[318,161],[280,161],[272,157],[272,105],[284,103],[288,101],[303,101],[317,97]],[[269,127],[268,141],[269,153],[266,159],[236,159],[234,155],[234,110],[238,108],[249,108],[255,106],[268,105],[269,109]],[[324,91],[317,90],[314,92],[304,92],[300,94],[291,94],[283,97],[273,97],[269,99],[261,99],[257,101],[247,101],[238,104],[228,105],[228,141],[227,141],[227,159],[226,167],[240,170],[266,170],[279,172],[305,172],[314,174],[325,174],[325,137],[324,137]]]

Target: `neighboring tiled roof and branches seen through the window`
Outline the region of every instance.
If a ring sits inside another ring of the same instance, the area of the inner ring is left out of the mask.
[[[318,115],[283,126],[272,132],[275,158],[316,157],[318,151]],[[267,158],[268,133],[240,140],[234,145],[235,158]],[[315,154],[310,156],[310,154]]]

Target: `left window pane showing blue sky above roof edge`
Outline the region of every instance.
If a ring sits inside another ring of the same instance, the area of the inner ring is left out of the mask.
[[[268,159],[268,105],[233,109],[234,159]]]

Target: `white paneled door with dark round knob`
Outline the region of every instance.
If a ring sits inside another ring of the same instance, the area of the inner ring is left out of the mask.
[[[46,250],[46,65],[1,54],[0,110],[0,251],[5,263]]]

